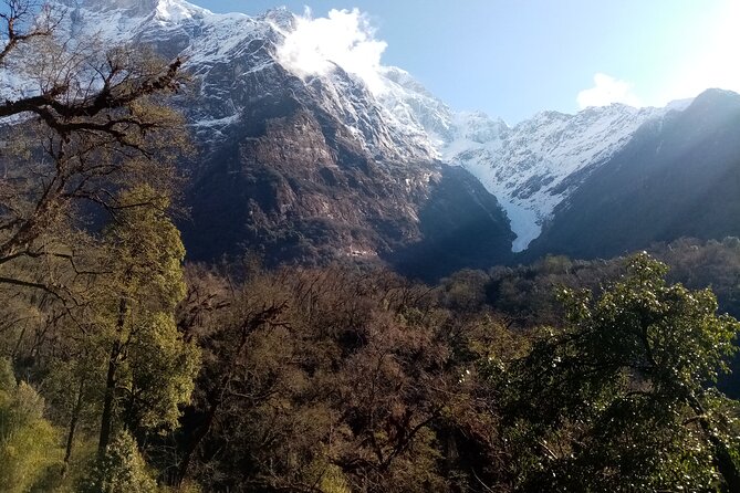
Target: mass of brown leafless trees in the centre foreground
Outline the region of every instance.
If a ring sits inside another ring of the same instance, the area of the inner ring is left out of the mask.
[[[196,325],[204,370],[180,479],[215,491],[465,491],[473,455],[482,474],[490,421],[475,421],[489,408],[460,381],[476,343],[432,290],[351,266],[243,284],[197,275],[180,321]]]

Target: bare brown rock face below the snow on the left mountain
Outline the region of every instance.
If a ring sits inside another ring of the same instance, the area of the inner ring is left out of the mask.
[[[250,246],[271,261],[372,258],[418,235],[416,203],[436,167],[381,166],[298,102],[249,116],[258,124],[234,126],[192,180],[192,223],[184,224],[192,256]]]

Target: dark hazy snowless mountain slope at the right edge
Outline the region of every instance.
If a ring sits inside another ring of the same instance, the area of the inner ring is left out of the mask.
[[[719,90],[644,125],[555,210],[528,258],[611,256],[680,237],[740,235],[739,135],[740,95]]]

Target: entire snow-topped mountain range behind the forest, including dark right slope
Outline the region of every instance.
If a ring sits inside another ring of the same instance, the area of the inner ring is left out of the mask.
[[[398,67],[306,67],[289,50],[310,41],[295,38],[305,20],[285,9],[63,4],[74,39],[186,60],[195,90],[176,104],[199,149],[183,164],[190,259],[250,249],[268,264],[381,261],[432,280],[550,252],[737,234],[733,93],[510,126],[451,109]]]

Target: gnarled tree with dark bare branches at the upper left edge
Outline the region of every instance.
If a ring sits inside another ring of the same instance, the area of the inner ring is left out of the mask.
[[[64,40],[65,12],[33,0],[4,0],[2,12],[0,71],[21,82],[0,103],[12,127],[0,174],[0,284],[69,298],[67,284],[39,272],[60,262],[87,271],[74,238],[81,201],[115,209],[122,186],[173,178],[183,122],[160,97],[183,87],[181,61]]]

